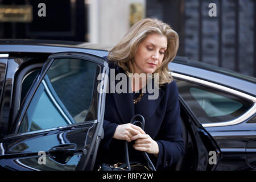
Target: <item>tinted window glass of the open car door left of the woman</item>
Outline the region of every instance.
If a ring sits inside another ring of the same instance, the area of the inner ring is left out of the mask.
[[[19,133],[81,123],[90,109],[97,64],[56,59],[36,90]]]

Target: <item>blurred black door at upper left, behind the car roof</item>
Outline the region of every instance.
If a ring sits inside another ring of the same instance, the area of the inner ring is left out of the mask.
[[[46,4],[46,17],[39,17],[39,3]],[[0,23],[0,38],[51,39],[86,42],[87,19],[84,1],[18,0],[0,1],[0,5],[32,5],[31,23]]]

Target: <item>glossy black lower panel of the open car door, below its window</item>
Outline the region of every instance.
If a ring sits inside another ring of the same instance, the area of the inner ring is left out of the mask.
[[[73,171],[79,163],[85,162],[80,159],[91,147],[92,137],[88,136],[93,136],[96,123],[93,121],[79,126],[5,138],[1,143],[0,166],[13,170]],[[65,149],[64,146],[71,148]],[[40,163],[42,154],[46,157],[45,163],[43,160]]]

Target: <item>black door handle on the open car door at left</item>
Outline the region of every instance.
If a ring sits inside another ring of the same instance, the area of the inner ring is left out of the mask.
[[[82,150],[76,150],[76,144],[60,144],[59,146],[54,146],[49,150],[49,155],[52,159],[56,160],[61,164],[65,164],[72,158],[75,153],[81,153]]]

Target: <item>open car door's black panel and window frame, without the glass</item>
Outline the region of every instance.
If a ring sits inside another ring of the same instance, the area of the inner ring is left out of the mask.
[[[48,77],[46,73],[51,68],[53,61],[57,59],[60,61],[65,59],[91,61],[96,65],[101,65],[99,73],[105,73],[105,67],[108,67],[104,59],[85,53],[64,52],[49,56],[42,68],[40,77],[32,85],[26,102],[19,111],[19,116],[16,118],[16,124],[11,130],[11,134],[5,135],[2,139],[0,148],[0,166],[2,168],[13,170],[82,170],[93,166],[93,160],[90,158],[94,156],[94,153],[97,153],[95,146],[100,140],[99,136],[102,135],[100,129],[104,114],[102,108],[105,106],[105,102],[102,101],[104,100],[104,97],[102,97],[104,92],[100,92],[101,94],[97,92],[97,82],[94,82],[94,99],[90,104],[90,108],[92,108],[94,107],[93,103],[96,104],[98,102],[98,108],[96,110],[93,109],[93,111],[97,112],[96,120],[18,133],[20,122],[23,121],[27,108],[32,103],[35,94],[39,92],[39,85],[45,80],[45,77]],[[97,76],[95,79],[97,79]],[[42,152],[45,157],[43,164],[40,163]]]

